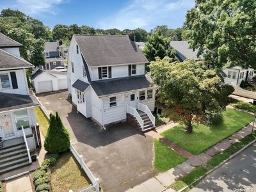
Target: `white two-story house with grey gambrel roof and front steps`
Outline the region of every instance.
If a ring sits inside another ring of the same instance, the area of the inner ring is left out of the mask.
[[[129,120],[142,131],[154,129],[156,86],[145,63],[134,35],[74,35],[67,78],[77,111],[102,127]]]

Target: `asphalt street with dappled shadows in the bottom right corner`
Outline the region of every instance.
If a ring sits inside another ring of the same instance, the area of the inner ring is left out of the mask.
[[[256,191],[256,143],[205,177],[191,191]]]

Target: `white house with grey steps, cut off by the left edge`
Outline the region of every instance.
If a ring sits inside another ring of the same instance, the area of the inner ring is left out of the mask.
[[[34,113],[39,103],[29,95],[26,78],[33,65],[20,58],[21,46],[0,33],[0,174],[31,163],[29,150],[39,145]]]

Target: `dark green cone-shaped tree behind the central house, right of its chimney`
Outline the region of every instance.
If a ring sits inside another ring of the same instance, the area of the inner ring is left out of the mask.
[[[148,61],[155,61],[156,57],[163,59],[168,56],[172,61],[177,60],[175,51],[170,46],[170,38],[165,38],[161,32],[157,31],[148,35],[147,43],[143,49]]]

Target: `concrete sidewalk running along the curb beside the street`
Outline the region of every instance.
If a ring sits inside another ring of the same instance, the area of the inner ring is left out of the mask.
[[[212,146],[205,152],[202,152],[201,154],[198,154],[196,156],[191,157],[187,161],[185,161],[182,164],[179,164],[175,168],[172,168],[166,172],[159,173],[155,177],[152,177],[151,179],[146,180],[145,182],[141,183],[138,186],[134,186],[134,188],[130,188],[127,191],[130,192],[171,192],[174,191],[173,189],[167,189],[168,186],[170,186],[175,180],[179,179],[180,177],[190,173],[196,166],[200,166],[202,164],[207,163],[209,159],[212,158],[215,154],[218,154],[222,152],[223,150],[226,150],[230,145],[233,143],[236,143],[238,140],[241,140],[248,134],[252,132],[252,123],[244,127],[243,129],[240,129],[239,131],[232,134],[230,137],[226,138],[225,140],[220,141],[219,143],[216,143],[216,145]],[[157,130],[158,132],[158,130]],[[157,138],[160,138],[157,132],[148,132],[149,135],[155,136]]]

